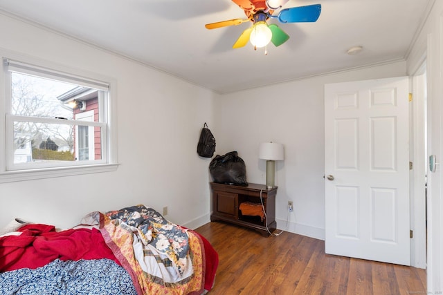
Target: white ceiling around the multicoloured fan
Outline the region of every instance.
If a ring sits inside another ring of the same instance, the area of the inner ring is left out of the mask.
[[[321,15],[315,23],[279,24],[290,39],[279,47],[270,44],[268,55],[251,44],[232,48],[248,22],[205,28],[245,17],[230,0],[0,0],[0,12],[230,93],[403,60],[433,1],[289,0],[283,8],[320,3]],[[352,46],[363,51],[347,55]]]

